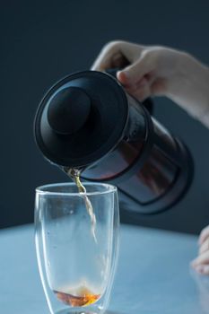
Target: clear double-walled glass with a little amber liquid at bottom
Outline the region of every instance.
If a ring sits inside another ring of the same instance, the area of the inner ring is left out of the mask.
[[[36,189],[39,274],[53,314],[101,314],[109,303],[118,259],[117,188],[84,187],[82,194],[74,183]]]

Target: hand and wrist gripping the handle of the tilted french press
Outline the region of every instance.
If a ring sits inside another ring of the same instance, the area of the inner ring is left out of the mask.
[[[113,67],[123,68],[118,81],[136,99],[166,96],[209,126],[209,70],[194,57],[172,48],[112,41],[91,69]]]

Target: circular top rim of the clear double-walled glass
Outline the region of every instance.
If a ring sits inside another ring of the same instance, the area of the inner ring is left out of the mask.
[[[112,192],[117,192],[118,188],[108,184],[108,183],[100,183],[100,182],[83,182],[83,186],[100,186],[107,189],[104,189],[103,191],[93,191],[93,192],[59,192],[59,191],[50,191],[49,188],[55,188],[55,187],[76,187],[74,182],[64,182],[64,183],[51,183],[51,184],[45,184],[43,186],[37,187],[36,193],[42,194],[42,195],[51,195],[51,196],[96,196],[96,195],[102,195],[102,194],[109,194]],[[45,188],[47,188],[45,190]]]

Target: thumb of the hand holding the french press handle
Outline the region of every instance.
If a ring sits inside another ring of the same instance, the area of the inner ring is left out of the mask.
[[[152,59],[142,56],[132,65],[128,65],[122,71],[118,71],[117,78],[124,85],[132,85],[140,81],[145,74],[149,74],[152,70]]]

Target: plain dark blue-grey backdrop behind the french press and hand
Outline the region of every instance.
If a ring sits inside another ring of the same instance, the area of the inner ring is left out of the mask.
[[[34,188],[66,180],[33,141],[33,117],[50,85],[90,68],[112,39],[184,49],[207,64],[208,12],[208,1],[1,1],[1,228],[32,222]],[[187,143],[195,179],[170,211],[121,213],[122,221],[198,232],[209,223],[209,131],[170,100],[155,100],[154,115]]]

